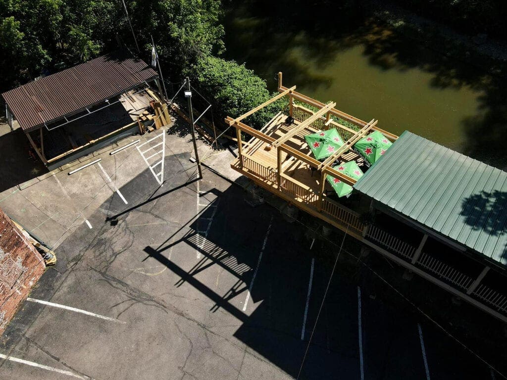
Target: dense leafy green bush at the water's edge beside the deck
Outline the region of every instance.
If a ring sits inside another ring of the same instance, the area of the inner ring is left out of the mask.
[[[195,79],[199,87],[212,94],[216,108],[222,117],[238,117],[270,99],[266,81],[252,70],[234,61],[226,61],[211,55],[200,59]],[[261,128],[276,112],[284,107],[283,100],[276,101],[245,119],[254,128]]]

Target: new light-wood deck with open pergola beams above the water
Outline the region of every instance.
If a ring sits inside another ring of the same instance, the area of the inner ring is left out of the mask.
[[[333,166],[349,161],[364,166],[364,159],[351,148],[372,130],[383,133],[391,141],[397,136],[379,129],[375,120],[367,123],[337,110],[334,108],[336,103],[323,104],[294,90],[295,87],[281,85],[280,75],[279,95],[236,119],[226,119],[227,124],[236,128],[238,141],[239,157],[231,167],[280,198],[362,239],[365,225],[359,220],[359,214],[327,196],[328,192],[334,193],[325,178],[332,175],[353,185],[355,179],[338,172]],[[261,131],[241,122],[283,96],[289,97],[288,114],[279,112]],[[330,158],[317,161],[304,136],[331,128],[338,130],[344,144]],[[250,135],[250,140],[243,141],[242,133]]]

